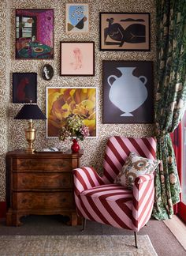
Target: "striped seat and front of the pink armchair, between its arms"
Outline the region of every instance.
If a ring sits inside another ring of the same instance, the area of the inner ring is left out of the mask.
[[[132,199],[132,190],[118,184],[106,184],[81,192],[80,206],[89,220],[132,229]]]

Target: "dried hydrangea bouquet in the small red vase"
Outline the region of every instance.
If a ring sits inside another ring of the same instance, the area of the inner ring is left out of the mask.
[[[65,141],[68,137],[84,141],[84,138],[88,135],[89,129],[84,125],[80,115],[69,115],[66,119],[65,126],[62,126],[59,130],[59,139],[61,141]]]

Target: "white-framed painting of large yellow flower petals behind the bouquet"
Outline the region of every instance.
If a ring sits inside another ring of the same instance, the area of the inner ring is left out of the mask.
[[[69,115],[78,114],[88,126],[90,136],[97,136],[95,87],[47,87],[47,137],[58,137]]]

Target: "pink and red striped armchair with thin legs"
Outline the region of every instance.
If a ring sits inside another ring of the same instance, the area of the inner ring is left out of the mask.
[[[155,159],[154,137],[110,137],[106,145],[103,175],[94,168],[73,170],[76,211],[86,220],[130,229],[136,234],[151,217],[154,204],[154,174],[135,179],[133,190],[113,183],[130,152]]]

